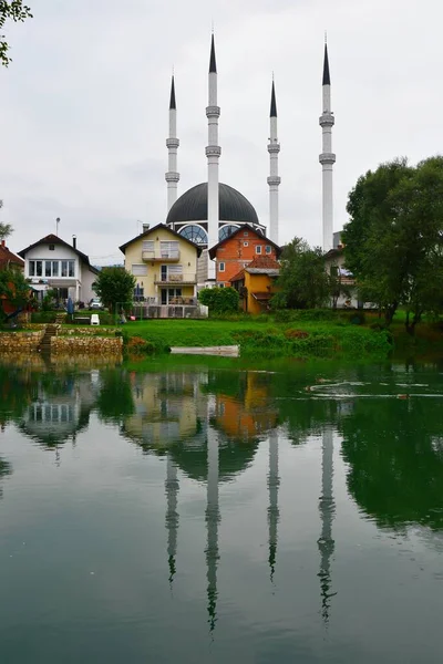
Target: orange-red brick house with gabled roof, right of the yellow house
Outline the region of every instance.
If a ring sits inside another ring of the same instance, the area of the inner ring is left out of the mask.
[[[216,261],[217,286],[226,287],[231,286],[230,279],[255,258],[262,256],[275,261],[280,253],[280,247],[248,224],[209,249],[209,258]]]

